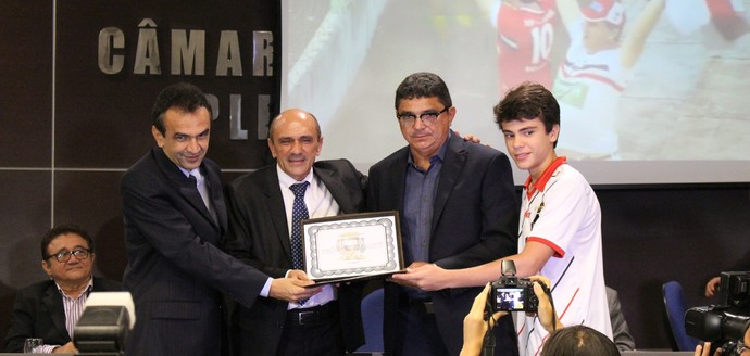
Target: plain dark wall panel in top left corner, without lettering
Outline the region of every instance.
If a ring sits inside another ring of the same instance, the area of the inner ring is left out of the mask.
[[[0,165],[50,164],[52,2],[0,3]]]

